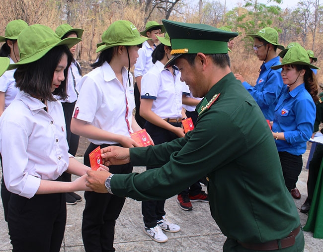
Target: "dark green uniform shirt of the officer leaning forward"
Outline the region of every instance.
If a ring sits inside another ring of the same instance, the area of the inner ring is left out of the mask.
[[[211,106],[207,104],[219,93]],[[287,237],[300,220],[261,110],[233,73],[216,83],[205,99],[197,111],[209,108],[199,114],[194,130],[185,137],[131,148],[132,165],[162,167],[142,174],[116,174],[112,192],[137,200],[161,200],[207,175],[211,214],[225,236],[245,243]]]

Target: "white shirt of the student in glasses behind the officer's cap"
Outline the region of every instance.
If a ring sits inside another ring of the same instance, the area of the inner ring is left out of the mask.
[[[150,68],[154,65],[152,60],[152,53],[154,49],[148,44],[147,41],[143,43],[142,48],[138,50],[139,57],[135,63],[135,77],[144,76]]]

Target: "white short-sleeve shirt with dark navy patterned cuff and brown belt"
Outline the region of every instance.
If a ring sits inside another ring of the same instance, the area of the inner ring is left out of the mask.
[[[182,93],[185,83],[180,81],[180,72],[172,68],[174,75],[157,61],[143,76],[141,99],[153,99],[152,111],[161,117],[178,118],[182,111]]]

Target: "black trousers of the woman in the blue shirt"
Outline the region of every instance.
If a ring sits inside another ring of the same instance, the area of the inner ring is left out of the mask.
[[[302,155],[296,156],[286,151],[278,152],[280,163],[283,169],[285,185],[289,191],[296,188],[298,176],[303,167]]]

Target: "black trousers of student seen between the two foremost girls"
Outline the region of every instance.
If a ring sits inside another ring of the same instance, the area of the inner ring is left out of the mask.
[[[75,107],[75,102],[62,102],[65,123],[66,123],[66,139],[69,144],[69,153],[73,156],[76,155],[79,147],[80,136],[72,133],[71,131],[71,121],[73,116],[73,111]],[[72,175],[70,173],[64,172],[62,175],[63,181],[71,182]]]

